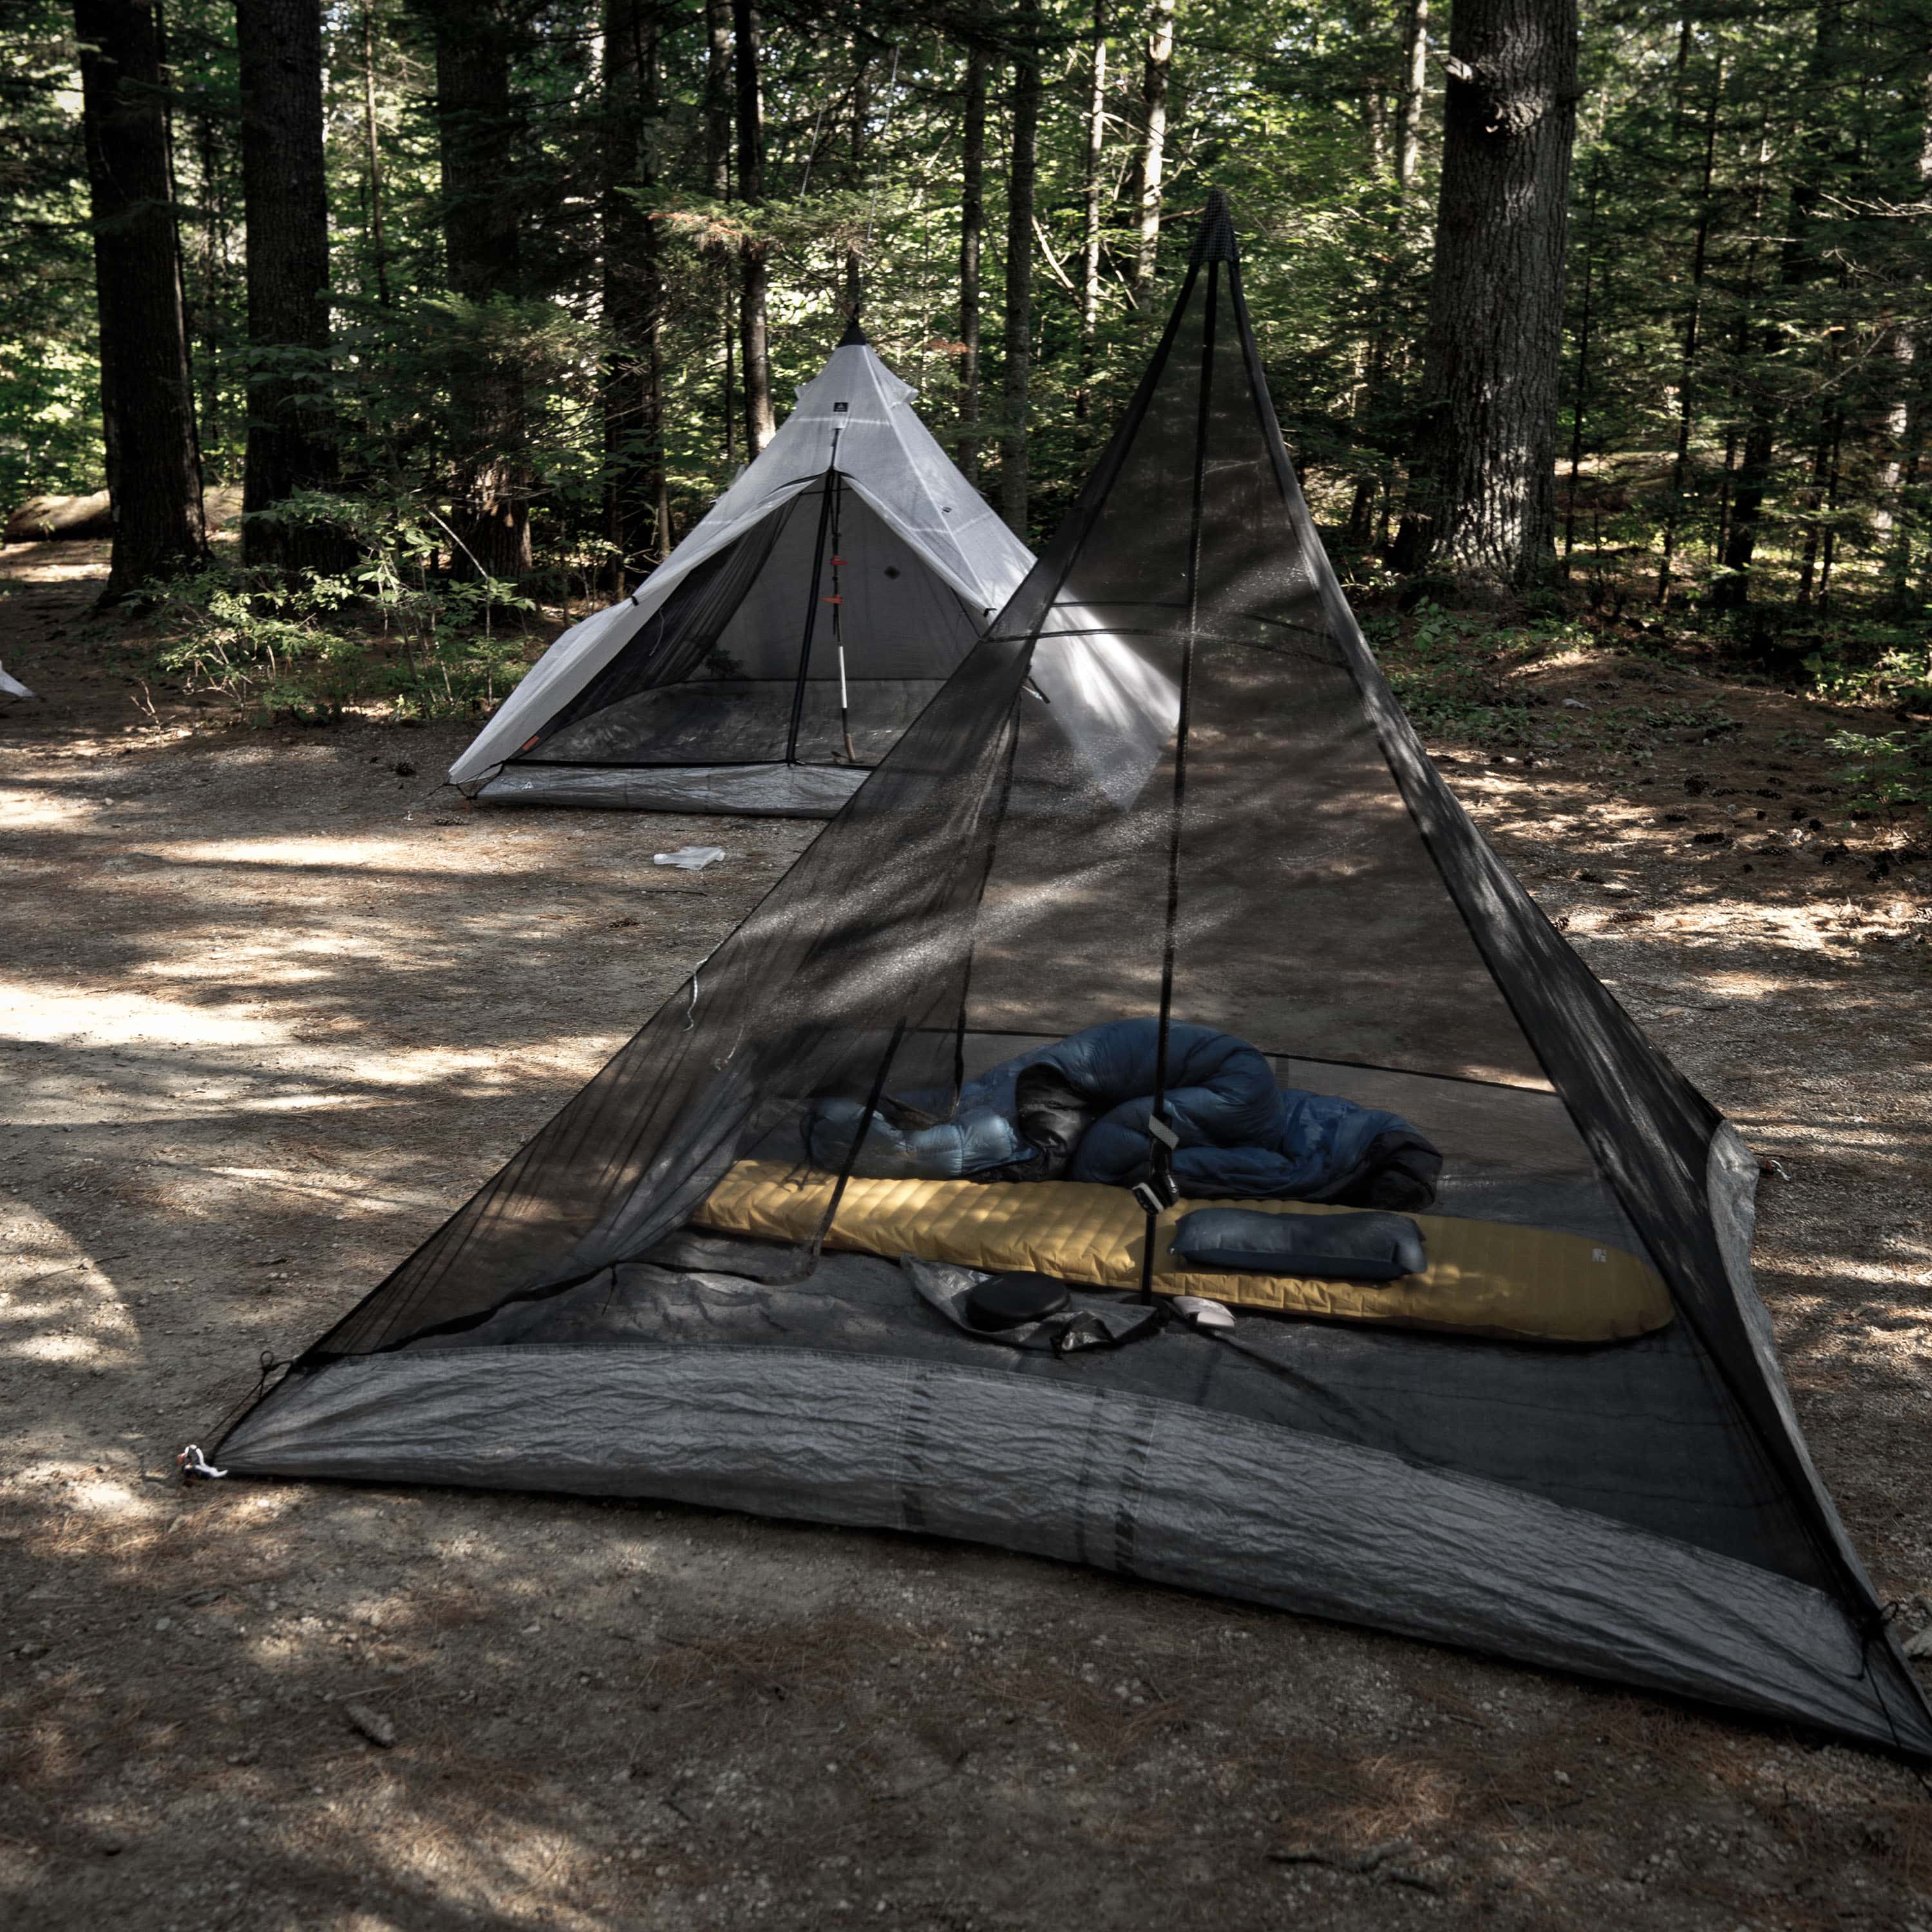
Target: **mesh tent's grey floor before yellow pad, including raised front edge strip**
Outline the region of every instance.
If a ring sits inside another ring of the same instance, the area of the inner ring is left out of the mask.
[[[757,1248],[298,1372],[222,1461],[987,1542],[1893,1741],[1683,1323],[1559,1352],[1246,1318],[1273,1368],[1175,1327],[1063,1358],[893,1262],[753,1281],[792,1260]]]

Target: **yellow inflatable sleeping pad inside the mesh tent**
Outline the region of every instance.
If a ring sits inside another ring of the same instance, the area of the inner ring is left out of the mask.
[[[740,1161],[696,1213],[697,1227],[759,1240],[810,1240],[833,1196],[821,1173],[781,1161]],[[1395,1321],[1507,1341],[1623,1341],[1671,1320],[1671,1296],[1654,1267],[1584,1235],[1553,1235],[1507,1221],[1418,1213],[1430,1265],[1401,1281],[1316,1281],[1188,1269],[1171,1256],[1175,1223],[1196,1208],[1264,1213],[1347,1213],[1312,1202],[1194,1202],[1157,1223],[1153,1287],[1209,1294],[1244,1308]],[[1140,1287],[1146,1215],[1124,1188],[1080,1180],[860,1180],[846,1182],[827,1248],[902,1254],[991,1271],[1026,1269],[1099,1289]]]

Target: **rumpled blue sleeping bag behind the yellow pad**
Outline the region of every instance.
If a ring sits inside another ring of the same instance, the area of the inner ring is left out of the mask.
[[[1132,1186],[1151,1171],[1155,1020],[1109,1020],[1005,1061],[960,1088],[937,1126],[895,1124],[881,1107],[852,1167],[866,1177],[1094,1180]],[[906,1117],[931,1095],[908,1095]],[[1167,1122],[1184,1196],[1339,1202],[1420,1209],[1435,1200],[1441,1153],[1401,1115],[1333,1094],[1277,1088],[1269,1063],[1208,1026],[1167,1032]],[[842,1167],[864,1107],[821,1101],[811,1157]]]

